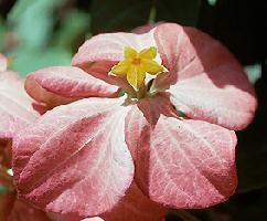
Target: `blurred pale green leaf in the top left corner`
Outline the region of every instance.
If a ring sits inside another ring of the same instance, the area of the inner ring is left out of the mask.
[[[47,43],[53,29],[53,12],[65,0],[19,0],[8,15],[23,46]]]

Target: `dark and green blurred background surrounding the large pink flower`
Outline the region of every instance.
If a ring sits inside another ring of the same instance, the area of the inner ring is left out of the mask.
[[[158,21],[196,27],[220,40],[243,64],[259,101],[253,124],[237,133],[235,196],[210,209],[173,211],[167,220],[267,221],[266,0],[0,0],[0,52],[25,77],[68,65],[94,34]]]

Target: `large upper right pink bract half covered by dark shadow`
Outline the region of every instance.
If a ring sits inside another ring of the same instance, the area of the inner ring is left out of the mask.
[[[169,87],[177,109],[235,130],[250,123],[257,106],[255,92],[226,48],[196,29],[171,23],[159,25],[154,38],[169,70],[154,87]]]

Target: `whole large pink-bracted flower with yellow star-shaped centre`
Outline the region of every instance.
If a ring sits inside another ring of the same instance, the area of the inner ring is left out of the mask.
[[[196,29],[163,23],[142,32],[93,36],[73,66],[28,76],[33,98],[65,105],[53,103],[17,137],[21,198],[85,218],[115,208],[132,181],[150,200],[179,209],[234,193],[234,130],[257,105],[242,66]]]

